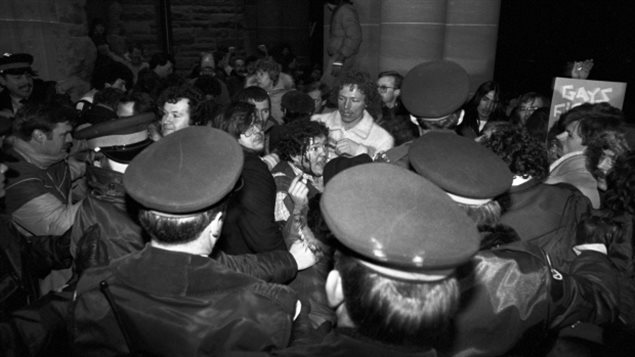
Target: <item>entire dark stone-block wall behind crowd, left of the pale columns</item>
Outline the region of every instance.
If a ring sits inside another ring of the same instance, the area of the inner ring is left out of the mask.
[[[229,46],[252,54],[261,43],[270,48],[285,43],[298,57],[307,57],[310,1],[171,0],[177,71],[189,73],[202,51]],[[104,19],[126,43],[142,43],[149,57],[163,50],[159,6],[159,0],[88,0],[86,11],[89,21]],[[113,12],[120,17],[113,18]]]

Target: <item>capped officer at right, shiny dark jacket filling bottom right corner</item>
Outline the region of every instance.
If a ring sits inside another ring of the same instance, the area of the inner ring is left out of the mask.
[[[481,233],[498,225],[500,206],[495,198],[509,189],[513,176],[493,152],[453,132],[431,131],[412,143],[409,159],[415,171],[443,189]],[[486,242],[492,238],[483,237]],[[482,243],[471,266],[459,275],[469,299],[454,316],[454,334],[443,354],[479,351],[500,356],[516,348],[541,355],[540,349],[550,345],[541,340],[548,332],[580,322],[612,323],[619,289],[606,252],[613,242],[576,243],[569,248],[579,255],[568,268],[553,264],[529,242],[494,242],[494,247]]]

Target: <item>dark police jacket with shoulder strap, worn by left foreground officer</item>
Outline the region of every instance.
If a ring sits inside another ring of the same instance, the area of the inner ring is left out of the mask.
[[[102,281],[108,288],[100,290]],[[81,356],[123,355],[130,349],[212,356],[281,348],[290,342],[296,303],[285,286],[236,273],[207,257],[147,246],[84,273],[73,306],[73,344]]]

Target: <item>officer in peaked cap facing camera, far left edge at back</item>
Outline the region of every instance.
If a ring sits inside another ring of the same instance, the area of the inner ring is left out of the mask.
[[[41,103],[48,95],[55,94],[54,82],[33,79],[37,74],[31,69],[33,56],[15,53],[0,56],[0,115],[12,118],[27,102]]]

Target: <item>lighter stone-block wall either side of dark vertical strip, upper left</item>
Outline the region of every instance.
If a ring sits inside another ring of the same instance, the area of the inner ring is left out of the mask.
[[[245,0],[171,0],[170,4],[172,52],[181,74],[189,73],[202,51],[246,46]],[[127,45],[142,44],[149,58],[163,51],[159,6],[158,0],[89,0],[86,11],[91,21],[105,20],[109,33],[115,29],[114,35]]]

